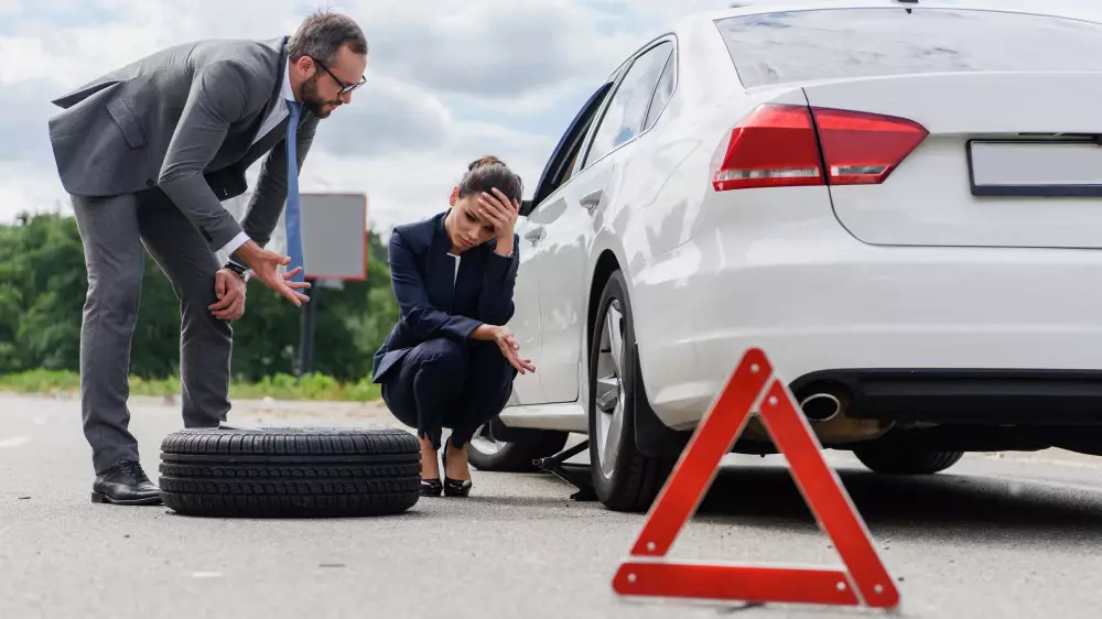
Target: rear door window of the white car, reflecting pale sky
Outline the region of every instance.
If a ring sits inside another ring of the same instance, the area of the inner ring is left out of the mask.
[[[673,44],[663,41],[635,59],[627,75],[608,101],[601,124],[593,135],[583,167],[614,151],[642,131],[658,78],[666,67]]]

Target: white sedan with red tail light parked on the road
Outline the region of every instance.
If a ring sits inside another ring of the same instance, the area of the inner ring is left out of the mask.
[[[728,9],[628,57],[522,210],[538,371],[472,463],[587,434],[647,509],[750,347],[876,471],[1102,455],[1102,24],[988,7]]]

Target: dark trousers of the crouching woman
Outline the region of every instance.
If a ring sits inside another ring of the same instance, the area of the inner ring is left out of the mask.
[[[433,448],[440,448],[444,427],[452,431],[452,445],[463,447],[478,426],[505,408],[516,376],[516,368],[491,341],[430,339],[387,373],[382,400]]]

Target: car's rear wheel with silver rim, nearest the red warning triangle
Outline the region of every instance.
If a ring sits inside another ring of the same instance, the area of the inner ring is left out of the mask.
[[[645,456],[636,446],[635,398],[641,390],[636,384],[635,354],[631,304],[623,272],[617,271],[597,303],[588,363],[593,489],[597,500],[614,511],[649,509],[673,467],[672,459]]]

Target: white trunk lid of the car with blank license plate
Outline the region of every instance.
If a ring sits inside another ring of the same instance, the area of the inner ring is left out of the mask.
[[[846,161],[838,144],[860,142],[861,132],[832,139],[819,128],[834,213],[856,238],[1102,247],[1102,73],[875,77],[804,93],[817,118],[845,110],[928,132],[878,183],[838,184],[830,173]]]

